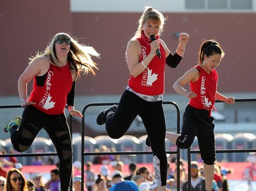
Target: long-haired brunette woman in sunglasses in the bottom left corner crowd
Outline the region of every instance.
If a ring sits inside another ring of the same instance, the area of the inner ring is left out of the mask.
[[[27,181],[18,169],[10,169],[6,177],[5,191],[27,191]]]

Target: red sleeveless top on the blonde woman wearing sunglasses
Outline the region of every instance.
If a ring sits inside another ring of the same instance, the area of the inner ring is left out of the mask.
[[[38,86],[34,77],[29,101],[35,102],[33,106],[46,114],[63,114],[72,88],[70,64],[64,67],[50,65],[46,75],[44,86]]]

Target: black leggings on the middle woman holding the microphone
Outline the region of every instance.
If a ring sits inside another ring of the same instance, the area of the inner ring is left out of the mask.
[[[167,183],[166,126],[162,101],[145,101],[136,94],[125,90],[115,114],[110,115],[106,120],[106,132],[109,137],[119,139],[128,131],[137,115],[141,117],[145,125],[154,156],[160,160],[160,177],[158,181],[161,182],[161,186],[165,186]]]

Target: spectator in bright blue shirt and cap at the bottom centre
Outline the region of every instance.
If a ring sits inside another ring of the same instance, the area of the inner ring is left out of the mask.
[[[133,181],[125,180],[120,171],[114,171],[111,177],[113,186],[109,191],[139,191],[137,185]]]

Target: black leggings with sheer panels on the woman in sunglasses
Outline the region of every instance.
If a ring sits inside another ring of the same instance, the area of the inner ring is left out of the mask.
[[[72,144],[65,114],[48,115],[31,105],[25,107],[18,131],[17,126],[11,128],[12,144],[16,151],[25,152],[42,128],[55,145],[59,157],[61,191],[66,191],[72,175]]]

